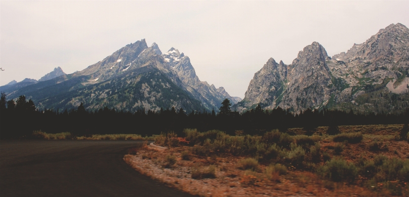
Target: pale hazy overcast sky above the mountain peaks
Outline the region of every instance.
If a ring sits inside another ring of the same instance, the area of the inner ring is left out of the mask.
[[[0,85],[81,71],[137,40],[189,56],[202,81],[244,98],[270,57],[290,64],[320,42],[329,56],[394,23],[409,1],[0,1]]]

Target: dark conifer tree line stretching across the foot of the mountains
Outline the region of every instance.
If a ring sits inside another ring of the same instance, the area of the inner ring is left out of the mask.
[[[92,134],[141,134],[153,135],[174,131],[183,135],[185,128],[200,131],[219,129],[234,134],[243,130],[246,134],[262,134],[272,129],[318,126],[402,124],[409,120],[409,108],[404,114],[355,114],[352,111],[318,111],[307,109],[299,114],[277,108],[263,110],[260,106],[244,113],[232,112],[230,101],[225,100],[220,113],[203,111],[185,112],[183,109],[161,109],[160,111],[138,110],[135,113],[115,111],[107,107],[87,111],[81,104],[77,110],[36,109],[32,100],[20,96],[17,101],[0,99],[0,139],[28,137],[34,130],[47,133],[71,132],[77,136]]]

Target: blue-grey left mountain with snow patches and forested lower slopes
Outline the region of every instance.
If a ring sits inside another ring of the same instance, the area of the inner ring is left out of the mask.
[[[88,110],[107,106],[130,112],[171,107],[217,111],[226,98],[233,104],[241,100],[223,87],[199,80],[189,57],[177,49],[163,54],[156,43],[148,47],[145,39],[127,44],[82,71],[62,73],[56,68],[39,81],[25,79],[1,86],[0,91],[8,98],[26,95],[40,109],[54,110],[83,103]]]

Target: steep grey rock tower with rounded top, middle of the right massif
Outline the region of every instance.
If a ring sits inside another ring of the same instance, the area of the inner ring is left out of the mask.
[[[330,58],[324,47],[313,42],[298,53],[289,65],[287,88],[282,101],[283,109],[294,111],[321,106],[330,98],[331,74],[326,61]]]

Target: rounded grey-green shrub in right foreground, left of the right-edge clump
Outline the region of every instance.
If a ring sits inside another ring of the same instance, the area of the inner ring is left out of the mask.
[[[343,158],[332,158],[319,168],[319,173],[334,182],[353,182],[357,176],[357,167]]]

